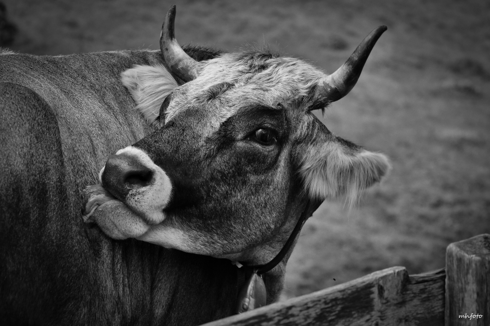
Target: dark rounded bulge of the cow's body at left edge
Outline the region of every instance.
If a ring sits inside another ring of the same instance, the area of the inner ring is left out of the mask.
[[[68,279],[52,278],[65,270],[84,279],[73,257],[73,239],[79,237],[70,224],[73,188],[66,187],[52,108],[23,85],[0,83],[0,94],[0,288],[9,294],[0,296],[0,320],[21,325],[33,315],[49,318],[67,309],[69,298],[81,302],[86,293],[77,293]],[[45,290],[31,291],[35,284]],[[60,300],[38,304],[54,297]],[[21,307],[31,315],[19,313]]]

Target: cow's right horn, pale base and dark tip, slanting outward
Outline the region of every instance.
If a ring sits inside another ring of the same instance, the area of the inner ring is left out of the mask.
[[[339,69],[319,81],[317,91],[321,97],[328,102],[335,102],[350,92],[356,85],[374,44],[387,29],[384,25],[373,29]]]

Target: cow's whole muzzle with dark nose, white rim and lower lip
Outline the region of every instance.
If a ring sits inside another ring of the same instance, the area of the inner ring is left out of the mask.
[[[111,238],[137,238],[168,216],[171,181],[140,149],[129,146],[109,157],[99,182],[84,190],[82,217]]]

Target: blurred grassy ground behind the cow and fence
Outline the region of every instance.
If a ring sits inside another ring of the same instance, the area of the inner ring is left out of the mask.
[[[268,43],[326,72],[388,26],[357,86],[322,120],[388,154],[392,173],[356,208],[325,202],[307,221],[283,299],[394,265],[440,268],[447,244],[490,233],[488,0],[2,1],[18,27],[10,47],[38,55],[157,49],[174,2],[181,44]]]

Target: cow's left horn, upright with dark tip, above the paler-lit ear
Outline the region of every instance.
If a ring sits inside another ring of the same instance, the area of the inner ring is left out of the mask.
[[[162,25],[160,50],[172,72],[184,82],[189,82],[197,77],[197,61],[189,57],[175,40],[174,22],[175,5],[172,5]]]

